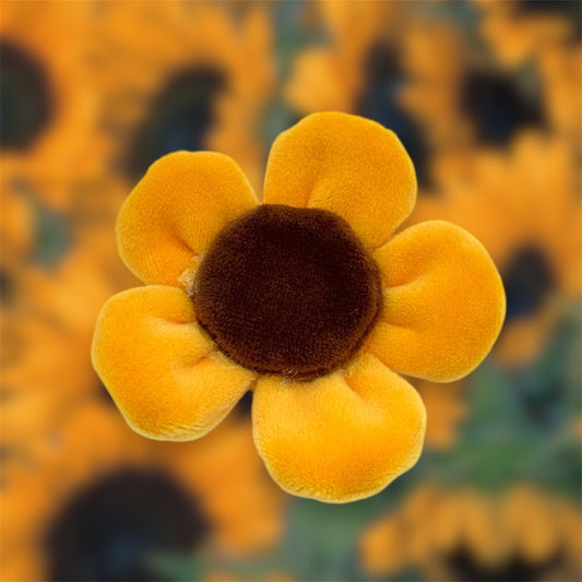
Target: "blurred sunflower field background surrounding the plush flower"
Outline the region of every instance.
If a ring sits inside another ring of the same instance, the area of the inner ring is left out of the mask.
[[[2,0],[1,579],[580,580],[581,5]],[[250,397],[199,441],[134,435],[88,355],[139,284],[114,225],[149,165],[215,150],[260,192],[318,110],[393,129],[405,226],[468,229],[508,296],[474,373],[412,380],[418,464],[347,506],[270,480]]]

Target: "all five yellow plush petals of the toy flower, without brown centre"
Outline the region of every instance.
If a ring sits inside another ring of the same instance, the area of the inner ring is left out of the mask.
[[[394,372],[450,381],[473,370],[503,320],[499,274],[482,245],[448,223],[391,238],[416,197],[395,134],[346,114],[309,116],[275,140],[265,203],[317,206],[349,223],[376,258],[384,307],[370,341],[314,379],[246,369],[219,351],[191,300],[199,253],[256,202],[235,168],[222,154],[175,153],[130,194],[118,242],[149,286],[106,304],[93,364],[132,428],[154,439],[198,438],[253,390],[254,441],[285,490],[328,502],[373,495],[415,464],[424,442],[421,399]],[[207,198],[195,176],[214,187]],[[218,212],[216,200],[234,205]]]

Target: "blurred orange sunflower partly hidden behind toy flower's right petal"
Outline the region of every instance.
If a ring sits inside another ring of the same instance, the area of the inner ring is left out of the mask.
[[[568,142],[523,134],[507,153],[454,159],[441,195],[425,197],[412,222],[446,219],[474,233],[498,265],[508,313],[496,346],[507,364],[532,361],[581,293],[578,163]]]

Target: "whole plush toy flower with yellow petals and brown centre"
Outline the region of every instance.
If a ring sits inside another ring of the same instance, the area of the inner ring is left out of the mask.
[[[117,222],[146,286],[109,299],[93,340],[128,423],[195,439],[251,389],[257,448],[289,492],[360,499],[413,466],[425,408],[397,373],[465,376],[504,313],[466,231],[427,222],[391,238],[415,198],[395,134],[340,112],[276,139],[262,205],[223,154],[155,163]]]

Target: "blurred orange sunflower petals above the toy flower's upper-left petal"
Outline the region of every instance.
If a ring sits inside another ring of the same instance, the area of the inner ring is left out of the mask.
[[[257,128],[276,76],[272,25],[258,3],[236,12],[206,1],[99,2],[91,82],[106,104],[106,122],[120,130],[112,157],[126,159],[140,145],[139,130],[157,115],[156,99],[168,84],[183,73],[211,72],[224,86],[209,104],[203,147],[233,157],[260,183],[264,152]],[[201,117],[197,99],[190,102],[190,114]]]

